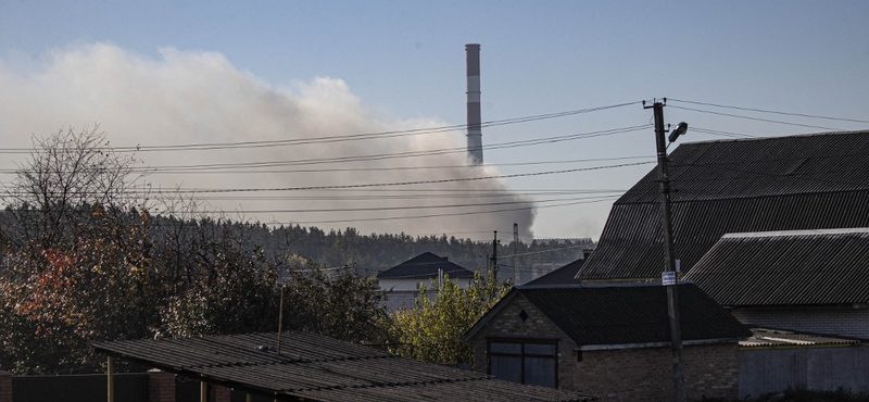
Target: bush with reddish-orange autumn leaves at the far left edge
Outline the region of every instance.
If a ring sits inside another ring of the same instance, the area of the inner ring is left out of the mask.
[[[0,365],[20,374],[88,373],[102,364],[91,342],[150,336],[164,280],[141,248],[128,246],[144,237],[140,229],[118,228],[126,242],[83,237],[75,251],[13,253],[13,269],[0,277]]]

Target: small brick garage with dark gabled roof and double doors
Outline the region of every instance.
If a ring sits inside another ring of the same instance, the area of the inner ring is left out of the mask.
[[[751,332],[692,284],[679,286],[690,399],[736,398]],[[672,397],[666,288],[597,284],[511,290],[464,337],[475,369],[601,401]]]

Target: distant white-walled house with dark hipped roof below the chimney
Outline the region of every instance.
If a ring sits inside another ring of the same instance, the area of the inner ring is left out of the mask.
[[[423,286],[431,289],[427,292],[429,297],[436,297],[438,293],[434,288],[443,277],[465,288],[470,285],[474,272],[450,262],[445,256],[425,252],[377,274],[380,289],[387,291],[386,305],[389,311],[412,307]]]

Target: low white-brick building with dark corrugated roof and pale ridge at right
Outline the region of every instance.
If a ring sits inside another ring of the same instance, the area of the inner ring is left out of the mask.
[[[685,279],[746,325],[869,339],[869,228],[725,235]]]

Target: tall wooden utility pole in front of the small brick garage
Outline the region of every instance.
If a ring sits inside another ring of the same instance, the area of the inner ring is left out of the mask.
[[[655,143],[658,156],[658,187],[660,189],[660,226],[664,231],[664,263],[672,275],[672,282],[666,284],[667,313],[670,318],[670,343],[672,348],[673,393],[677,402],[685,401],[684,353],[682,351],[682,329],[679,323],[679,277],[672,254],[672,224],[670,222],[670,178],[667,172],[667,143],[664,129],[664,102],[653,102],[655,115]],[[648,109],[643,102],[643,108]],[[676,138],[672,138],[675,140]]]

